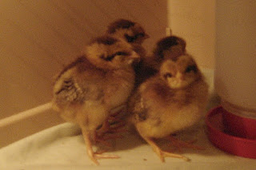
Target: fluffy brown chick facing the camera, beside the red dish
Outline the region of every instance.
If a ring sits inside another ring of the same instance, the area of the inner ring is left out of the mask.
[[[182,55],[177,61],[166,60],[159,73],[143,82],[130,97],[130,121],[162,162],[166,156],[189,160],[163,151],[154,138],[170,136],[198,122],[206,108],[207,95],[208,85],[190,55]]]

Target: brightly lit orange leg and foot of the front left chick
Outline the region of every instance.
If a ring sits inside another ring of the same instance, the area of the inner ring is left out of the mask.
[[[100,153],[95,153],[92,148],[92,143],[90,140],[90,132],[87,132],[86,130],[82,129],[82,136],[84,137],[84,140],[86,142],[86,149],[87,154],[90,157],[90,160],[92,160],[95,164],[99,164],[97,159],[114,159],[114,158],[120,158],[119,156],[114,155],[102,155]]]

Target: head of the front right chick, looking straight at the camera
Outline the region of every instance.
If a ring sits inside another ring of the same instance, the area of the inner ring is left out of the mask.
[[[170,89],[185,89],[202,77],[198,65],[190,55],[182,55],[177,61],[164,61],[159,73]]]

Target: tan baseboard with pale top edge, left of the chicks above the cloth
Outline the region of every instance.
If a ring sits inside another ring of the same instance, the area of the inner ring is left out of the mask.
[[[50,103],[6,117],[0,120],[0,148],[63,122]]]

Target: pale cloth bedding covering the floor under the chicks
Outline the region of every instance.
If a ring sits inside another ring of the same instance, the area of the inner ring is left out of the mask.
[[[213,71],[204,70],[204,73],[210,84],[210,93],[213,93]],[[212,95],[208,110],[214,105],[218,103]],[[197,139],[195,144],[206,149],[199,151],[184,148],[178,153],[189,157],[190,162],[166,158],[166,163],[162,163],[145,141],[138,135],[127,132],[107,152],[121,158],[99,160],[100,165],[96,166],[86,155],[78,126],[65,123],[0,149],[0,169],[256,169],[256,160],[230,155],[210,144],[204,121],[177,137],[185,140]]]

